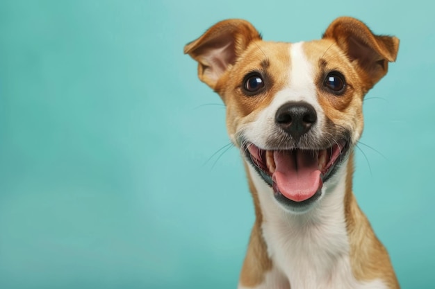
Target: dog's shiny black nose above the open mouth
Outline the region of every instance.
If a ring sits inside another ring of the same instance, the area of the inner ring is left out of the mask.
[[[293,139],[299,139],[317,121],[314,107],[304,102],[290,102],[279,107],[275,122]]]

